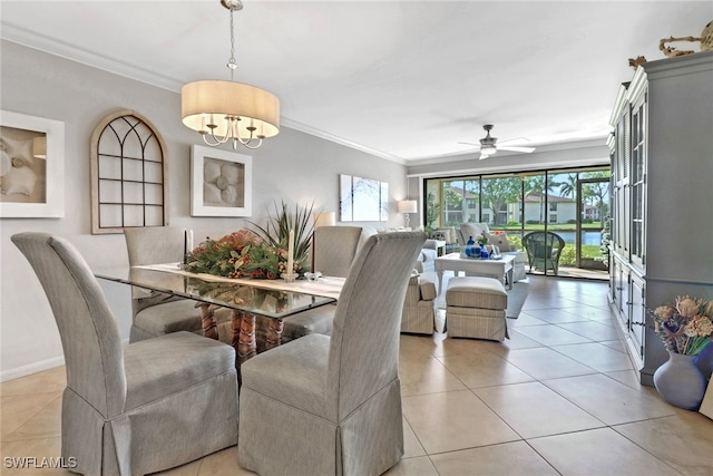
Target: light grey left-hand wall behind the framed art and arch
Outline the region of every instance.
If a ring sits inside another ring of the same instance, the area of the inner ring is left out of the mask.
[[[90,266],[126,263],[124,236],[91,234],[89,147],[92,130],[107,114],[133,109],[148,118],[167,144],[169,224],[194,230],[196,242],[245,225],[242,218],[191,217],[189,147],[198,135],[180,122],[180,96],[146,84],[2,41],[0,107],[65,123],[64,218],[0,220],[0,380],[53,367],[62,350],[51,310],[31,268],[10,236],[23,231],[56,233],[71,241]],[[339,174],[389,183],[390,221],[399,226],[395,202],[407,196],[406,167],[283,127],[253,156],[253,216],[261,223],[268,207],[293,205],[338,212]],[[360,223],[364,224],[364,223]],[[128,286],[102,283],[121,334],[128,337]]]

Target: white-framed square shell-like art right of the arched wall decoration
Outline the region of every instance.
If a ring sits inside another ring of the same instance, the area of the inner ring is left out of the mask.
[[[191,148],[191,216],[252,216],[253,157],[219,148]]]

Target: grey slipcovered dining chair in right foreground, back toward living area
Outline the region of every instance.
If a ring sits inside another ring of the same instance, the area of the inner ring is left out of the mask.
[[[423,233],[371,236],[332,336],[310,334],[241,370],[238,463],[261,475],[379,475],[403,456],[399,336]]]

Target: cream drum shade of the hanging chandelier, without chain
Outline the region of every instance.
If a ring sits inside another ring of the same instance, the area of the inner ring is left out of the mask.
[[[280,99],[242,82],[202,80],[184,85],[180,115],[187,127],[219,137],[235,136],[226,116],[240,117],[237,136],[242,139],[272,137],[280,132]],[[248,127],[255,130],[251,132]]]

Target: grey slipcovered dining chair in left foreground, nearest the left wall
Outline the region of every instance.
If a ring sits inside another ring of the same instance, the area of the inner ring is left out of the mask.
[[[12,242],[39,278],[65,352],[61,455],[86,475],[144,475],[237,441],[235,350],[189,332],[121,346],[96,278],[68,241]]]

